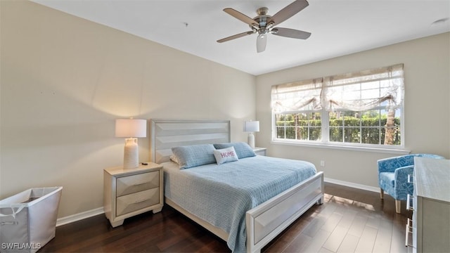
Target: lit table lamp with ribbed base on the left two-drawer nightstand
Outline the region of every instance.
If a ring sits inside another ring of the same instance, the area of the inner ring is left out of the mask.
[[[139,167],[138,137],[147,136],[146,119],[116,119],[115,136],[125,137],[124,169]]]

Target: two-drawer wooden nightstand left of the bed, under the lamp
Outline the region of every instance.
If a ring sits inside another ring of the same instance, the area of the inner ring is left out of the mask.
[[[136,169],[113,167],[103,170],[103,208],[113,228],[124,219],[164,205],[163,171],[160,164],[148,162]]]

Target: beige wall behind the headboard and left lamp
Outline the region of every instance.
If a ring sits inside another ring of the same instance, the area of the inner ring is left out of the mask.
[[[63,186],[59,217],[102,207],[118,117],[231,119],[245,141],[255,77],[29,1],[1,5],[0,197]],[[140,138],[140,160],[149,138]]]

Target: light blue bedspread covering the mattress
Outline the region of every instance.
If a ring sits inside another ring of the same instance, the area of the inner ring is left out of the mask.
[[[310,162],[259,155],[220,165],[165,168],[165,196],[229,233],[233,252],[246,252],[245,212],[314,174]]]

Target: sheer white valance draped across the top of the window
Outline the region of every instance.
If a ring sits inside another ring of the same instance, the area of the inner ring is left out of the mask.
[[[272,86],[274,112],[399,108],[404,99],[403,64]]]

